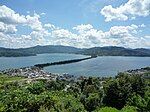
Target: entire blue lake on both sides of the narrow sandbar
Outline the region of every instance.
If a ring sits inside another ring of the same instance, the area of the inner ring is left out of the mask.
[[[0,57],[0,70],[33,66],[62,60],[78,59],[87,56],[76,54],[38,54],[30,57]],[[115,76],[118,72],[150,66],[150,57],[101,56],[89,60],[45,67],[52,73],[69,73],[86,76]]]

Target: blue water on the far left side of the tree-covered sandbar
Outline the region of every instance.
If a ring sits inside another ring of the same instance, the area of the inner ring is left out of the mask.
[[[83,55],[74,54],[38,54],[37,56],[29,57],[0,57],[0,70],[8,68],[20,68],[26,66],[33,66],[39,63],[55,62],[67,59],[83,58]]]

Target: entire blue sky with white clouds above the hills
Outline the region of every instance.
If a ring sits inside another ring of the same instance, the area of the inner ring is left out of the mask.
[[[0,0],[0,47],[150,48],[150,0]]]

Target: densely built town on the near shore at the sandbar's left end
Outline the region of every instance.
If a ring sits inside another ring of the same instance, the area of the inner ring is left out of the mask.
[[[47,79],[47,80],[67,80],[75,81],[76,77],[74,75],[69,75],[67,73],[57,74],[45,72],[43,68],[31,66],[23,67],[18,69],[6,69],[0,71],[0,74],[6,74],[8,76],[22,76],[27,79],[37,80],[37,79]]]

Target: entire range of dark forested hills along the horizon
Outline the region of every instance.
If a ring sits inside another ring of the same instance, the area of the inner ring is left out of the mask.
[[[116,46],[80,49],[61,45],[35,46],[20,49],[0,48],[0,57],[34,56],[43,53],[73,53],[98,56],[150,56],[150,49],[130,49]]]

